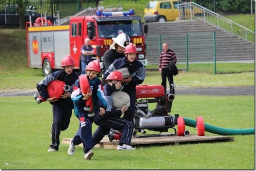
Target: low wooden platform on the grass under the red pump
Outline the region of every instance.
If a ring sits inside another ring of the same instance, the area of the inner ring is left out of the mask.
[[[69,144],[71,138],[62,139],[62,143]],[[161,136],[161,137],[132,137],[131,144],[132,146],[137,145],[179,145],[184,143],[205,143],[205,142],[223,142],[223,141],[234,141],[234,137],[225,137],[222,135],[217,136],[197,136],[190,135],[188,137],[179,137],[177,135],[171,136]],[[80,144],[82,146],[82,144]],[[116,149],[118,141],[113,140],[109,141],[108,137],[105,136],[99,144],[95,147],[105,148],[105,149]]]

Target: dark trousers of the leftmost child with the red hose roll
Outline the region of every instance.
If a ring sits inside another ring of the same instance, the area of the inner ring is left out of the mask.
[[[58,150],[60,145],[60,131],[64,131],[68,128],[72,108],[63,105],[63,103],[58,103],[52,105],[52,112],[52,144],[50,147]]]

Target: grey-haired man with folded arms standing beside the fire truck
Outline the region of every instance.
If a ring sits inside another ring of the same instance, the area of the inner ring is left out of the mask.
[[[92,61],[92,55],[94,54],[93,48],[90,45],[90,39],[85,38],[84,44],[81,47],[81,75],[85,74],[85,68]]]

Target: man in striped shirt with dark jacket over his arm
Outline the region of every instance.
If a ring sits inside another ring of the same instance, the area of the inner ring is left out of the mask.
[[[162,77],[161,85],[164,87],[164,91],[166,93],[166,77],[168,78],[170,89],[172,88],[171,84],[173,84],[173,75],[167,74],[166,67],[170,62],[174,62],[176,64],[177,59],[176,59],[175,53],[169,49],[168,43],[163,43],[162,47],[163,47],[163,51],[161,52],[160,58],[159,58],[159,72],[161,73],[161,77]],[[172,93],[174,93],[174,88]]]

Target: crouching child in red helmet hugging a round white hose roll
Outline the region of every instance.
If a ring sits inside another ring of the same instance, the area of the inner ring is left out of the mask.
[[[122,108],[118,110],[114,109],[112,106],[113,97],[111,95],[122,87],[122,81],[123,76],[119,71],[111,72],[105,79],[107,83],[104,86],[104,96],[106,97],[107,107],[105,113],[97,113],[94,117],[94,123],[99,127],[92,135],[93,145],[98,144],[104,135],[108,134],[110,129],[113,128],[122,132],[117,150],[135,149],[130,146],[133,131],[132,121],[120,117],[128,108],[126,108],[126,105],[123,105]]]

